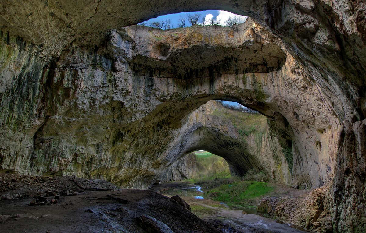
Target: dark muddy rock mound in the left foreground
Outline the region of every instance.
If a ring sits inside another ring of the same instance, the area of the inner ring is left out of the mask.
[[[11,190],[5,193],[22,193],[23,185],[34,191],[60,192],[57,203],[30,205],[34,198],[30,192],[16,200],[1,200],[1,232],[219,232],[186,208],[154,191],[142,190],[83,190],[85,187],[113,187],[102,180],[76,177],[28,177],[1,174],[9,181]],[[11,181],[16,180],[16,181]],[[53,183],[51,182],[53,181]],[[30,184],[27,184],[29,182]],[[3,188],[3,184],[1,184]],[[61,194],[68,189],[74,195]],[[37,195],[37,194],[36,194]],[[51,198],[51,197],[47,197]],[[122,201],[123,200],[123,201]],[[170,231],[169,231],[170,230]]]

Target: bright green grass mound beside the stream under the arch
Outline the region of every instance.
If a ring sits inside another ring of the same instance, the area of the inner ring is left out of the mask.
[[[205,198],[225,202],[227,205],[251,205],[268,195],[273,186],[265,182],[238,181],[213,188],[205,193]]]

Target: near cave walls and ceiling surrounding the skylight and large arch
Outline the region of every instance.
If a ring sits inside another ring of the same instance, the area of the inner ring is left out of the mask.
[[[253,21],[120,28],[213,3]],[[236,100],[291,144],[293,185],[329,186],[333,230],[365,230],[364,1],[0,5],[2,171],[147,188],[189,148],[194,110]]]

